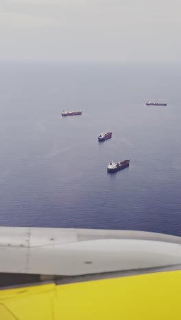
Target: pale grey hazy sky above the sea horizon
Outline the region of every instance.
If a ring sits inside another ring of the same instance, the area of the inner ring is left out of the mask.
[[[181,62],[180,0],[0,0],[0,59]]]

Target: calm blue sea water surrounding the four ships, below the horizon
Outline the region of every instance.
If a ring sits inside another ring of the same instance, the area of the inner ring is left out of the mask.
[[[181,68],[0,69],[1,225],[181,235]],[[112,139],[98,143],[103,131]],[[107,174],[127,158],[130,168]]]

